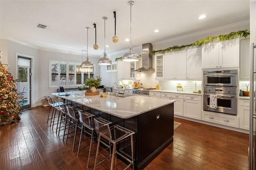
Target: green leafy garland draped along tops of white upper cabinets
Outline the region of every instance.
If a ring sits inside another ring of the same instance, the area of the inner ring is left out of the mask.
[[[186,48],[201,47],[202,45],[208,44],[210,42],[214,42],[215,40],[218,40],[218,42],[221,42],[221,41],[225,41],[225,40],[232,40],[232,39],[237,38],[237,37],[246,38],[248,36],[250,36],[250,31],[249,30],[242,30],[242,31],[238,31],[238,32],[230,32],[227,35],[218,35],[216,37],[207,37],[206,39],[203,39],[203,40],[197,40],[196,42],[194,42],[192,44],[188,44],[188,45],[181,45],[181,46],[174,45],[173,47],[168,47],[166,49],[160,49],[160,50],[157,50],[157,51],[152,51],[151,54],[155,55],[157,53],[164,54],[164,53],[169,53],[169,52],[172,52],[172,51],[181,51],[181,50],[186,49]],[[116,58],[116,61],[118,61],[120,59],[122,59],[122,57]]]

